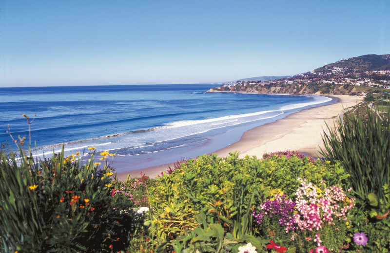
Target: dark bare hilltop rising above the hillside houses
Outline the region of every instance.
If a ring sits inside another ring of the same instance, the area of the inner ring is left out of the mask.
[[[329,68],[333,69],[334,67],[359,71],[390,70],[390,54],[366,54],[349,59],[342,59],[335,63],[325,65],[314,71],[321,72]]]

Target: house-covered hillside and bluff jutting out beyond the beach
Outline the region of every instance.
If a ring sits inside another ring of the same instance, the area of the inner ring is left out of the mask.
[[[342,59],[310,72],[269,81],[237,81],[210,92],[367,95],[390,93],[390,54]],[[246,79],[243,79],[246,80]]]

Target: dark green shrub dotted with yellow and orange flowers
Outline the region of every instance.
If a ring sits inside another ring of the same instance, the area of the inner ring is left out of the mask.
[[[25,154],[21,148],[20,153]],[[35,163],[27,155],[11,162],[2,155],[1,252],[111,252],[127,247],[133,213],[121,214],[128,206],[111,197],[111,169],[106,163],[99,170],[93,157],[84,164],[76,158],[64,158],[63,150],[50,161]]]

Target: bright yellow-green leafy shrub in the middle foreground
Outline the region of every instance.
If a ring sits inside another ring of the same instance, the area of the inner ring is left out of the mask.
[[[247,210],[266,197],[285,193],[292,197],[300,185],[298,178],[319,184],[341,186],[348,175],[342,167],[327,163],[312,163],[293,157],[255,157],[239,159],[237,153],[226,158],[216,155],[190,160],[172,174],[164,174],[150,188],[152,236],[159,240],[174,240],[185,231],[200,225],[199,214],[207,223],[220,224],[234,238],[255,231],[252,217],[245,220]],[[254,201],[251,201],[254,196]],[[204,223],[204,222],[203,222]]]

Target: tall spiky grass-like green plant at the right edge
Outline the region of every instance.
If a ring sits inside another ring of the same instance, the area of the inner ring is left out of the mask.
[[[366,108],[365,119],[360,114],[345,115],[334,128],[328,127],[322,140],[324,148],[320,154],[336,163],[340,161],[351,175],[351,186],[360,199],[366,199],[370,192],[384,198],[382,186],[390,179],[390,128],[370,108]]]

